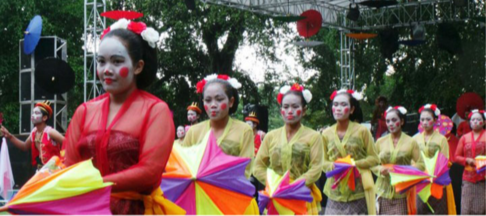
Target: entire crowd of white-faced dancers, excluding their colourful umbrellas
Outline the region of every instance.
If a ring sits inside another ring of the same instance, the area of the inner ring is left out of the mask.
[[[476,172],[474,159],[486,154],[483,110],[471,110],[471,131],[462,135],[451,153],[448,140],[434,131],[440,115],[434,104],[418,109],[424,130],[414,137],[402,132],[407,109],[387,108],[380,114],[388,134],[375,142],[369,129],[355,121],[361,113],[353,91],[340,90],[330,95],[335,123],[317,132],[301,123],[307,105],[312,103],[312,93],[293,84],[280,87],[276,95],[281,127],[265,134],[258,130],[256,113],[250,113],[245,122],[231,117],[240,103],[238,80],[210,75],[196,85],[202,100],[187,108],[190,125],[175,129],[167,104],[142,90],[156,79],[156,39],[158,33],[145,24],[119,20],[104,31],[97,57],[97,73],[106,93],[76,109],[66,137],[47,126],[52,108],[44,102],[35,105],[35,129],[26,141],[15,138],[2,126],[5,138],[18,148],[30,148],[33,165],[53,155],[63,157],[67,166],[92,158],[104,181],[115,183],[111,211],[116,216],[144,215],[150,200],[145,198],[155,199],[162,194],[159,185],[172,146],[197,145],[210,132],[224,153],[252,159],[245,170],[248,179],[253,176],[265,184],[270,168],[280,175],[289,171],[293,181],[305,180],[313,198],[307,203],[309,216],[321,211],[325,216],[451,216],[456,214],[454,196],[462,198],[461,215],[486,215],[485,174]],[[208,120],[199,122],[203,112]],[[178,139],[174,141],[175,135]],[[441,199],[431,197],[423,203],[416,194],[396,192],[390,183],[390,165],[424,170],[424,157],[437,152],[465,167],[462,194],[453,194],[451,185],[446,185],[440,188],[444,194]],[[334,161],[348,155],[359,170],[355,188],[333,188],[335,179],[331,177],[323,190],[319,189],[316,183],[321,175],[334,169]],[[126,192],[143,196],[133,199]],[[324,196],[326,208],[321,209]],[[252,201],[249,208],[255,204]]]

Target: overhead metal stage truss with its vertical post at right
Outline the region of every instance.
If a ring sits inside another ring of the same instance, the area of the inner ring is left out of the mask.
[[[437,24],[449,21],[466,21],[479,16],[484,9],[483,0],[464,0],[461,7],[454,1],[422,0],[403,1],[380,9],[360,5],[357,22],[346,19],[350,0],[202,0],[210,4],[225,5],[265,15],[300,15],[313,9],[321,13],[323,27],[334,28],[341,34],[341,85],[354,88],[354,40],[346,37],[350,31],[378,30],[386,27],[409,27],[414,24]],[[364,0],[355,0],[360,3]],[[400,1],[400,0],[399,0]]]

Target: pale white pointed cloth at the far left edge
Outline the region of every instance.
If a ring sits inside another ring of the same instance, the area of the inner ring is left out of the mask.
[[[3,138],[0,149],[0,196],[5,200],[8,199],[8,192],[13,189],[14,185],[14,175],[10,165],[7,141]]]

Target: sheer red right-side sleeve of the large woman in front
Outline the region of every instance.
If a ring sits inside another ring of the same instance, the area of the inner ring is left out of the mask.
[[[167,104],[156,103],[145,117],[141,128],[139,162],[121,172],[104,176],[113,182],[113,192],[151,192],[161,181],[162,172],[172,151],[175,137],[174,122]]]

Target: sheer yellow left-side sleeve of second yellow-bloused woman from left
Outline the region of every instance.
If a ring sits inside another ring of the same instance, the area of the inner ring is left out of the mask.
[[[257,157],[253,164],[253,175],[257,180],[265,185],[267,181],[267,168],[270,166],[270,143],[272,142],[273,133],[268,133],[258,150]]]

